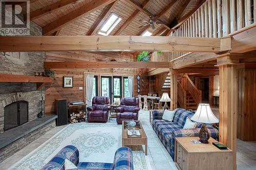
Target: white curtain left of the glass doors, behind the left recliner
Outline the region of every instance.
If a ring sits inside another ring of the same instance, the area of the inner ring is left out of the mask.
[[[92,106],[93,78],[94,78],[94,75],[86,75],[86,104],[87,104],[87,107]]]

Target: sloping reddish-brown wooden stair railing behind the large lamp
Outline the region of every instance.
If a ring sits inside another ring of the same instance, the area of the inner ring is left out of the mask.
[[[196,87],[196,85],[191,81],[188,75],[186,75],[186,79],[187,79],[187,83],[186,83],[187,90],[189,91],[192,98],[195,100],[195,102],[198,105],[199,103],[202,102],[202,91]]]

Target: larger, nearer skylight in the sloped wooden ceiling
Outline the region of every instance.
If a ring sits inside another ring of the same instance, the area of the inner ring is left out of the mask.
[[[112,13],[109,17],[109,19],[105,22],[103,27],[100,29],[99,34],[100,35],[109,35],[111,31],[114,30],[114,28],[118,25],[118,23],[122,19],[119,18],[116,14]]]

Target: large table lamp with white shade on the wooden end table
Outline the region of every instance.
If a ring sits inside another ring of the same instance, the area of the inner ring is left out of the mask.
[[[210,135],[205,124],[219,123],[219,119],[214,115],[214,113],[212,113],[210,105],[200,103],[196,113],[190,118],[190,120],[203,123],[199,131],[199,141],[202,143],[208,143]]]

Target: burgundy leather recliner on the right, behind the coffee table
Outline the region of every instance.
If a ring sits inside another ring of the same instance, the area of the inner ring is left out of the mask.
[[[121,107],[116,109],[116,122],[122,124],[122,120],[138,120],[139,115],[139,99],[138,98],[122,98]]]

